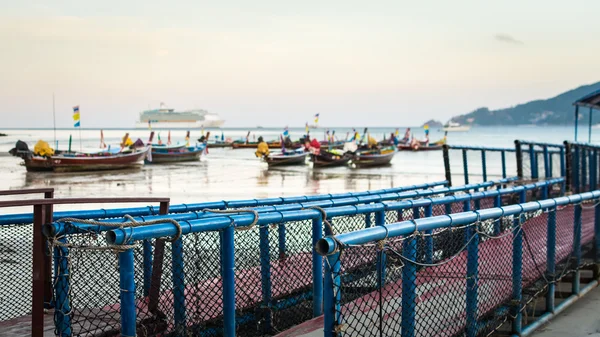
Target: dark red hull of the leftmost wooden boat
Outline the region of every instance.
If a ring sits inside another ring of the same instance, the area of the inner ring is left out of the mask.
[[[40,157],[33,153],[20,153],[27,171],[81,172],[139,168],[144,164],[149,147],[121,153],[100,152],[96,154],[58,153]]]

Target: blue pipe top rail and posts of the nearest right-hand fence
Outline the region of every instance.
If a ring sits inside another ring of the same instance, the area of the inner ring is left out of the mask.
[[[522,268],[522,230],[518,230],[523,221],[522,216],[525,213],[540,211],[540,210],[556,210],[557,207],[573,205],[575,208],[575,219],[574,219],[574,242],[573,252],[575,256],[575,276],[573,280],[573,295],[567,299],[570,304],[574,302],[579,296],[590,291],[591,288],[598,286],[598,281],[593,280],[586,287],[580,289],[579,285],[579,268],[581,265],[581,203],[585,201],[598,201],[600,200],[600,191],[585,192],[578,195],[572,195],[567,197],[559,197],[555,199],[540,200],[535,202],[521,203],[517,205],[510,205],[505,207],[495,207],[490,209],[479,210],[475,212],[463,212],[456,214],[448,214],[431,218],[415,219],[412,221],[402,221],[392,224],[376,226],[372,228],[366,228],[350,233],[338,234],[335,237],[325,237],[317,243],[315,246],[316,251],[323,257],[327,258],[329,263],[325,264],[325,289],[324,289],[324,336],[338,336],[337,326],[342,324],[341,319],[341,302],[340,298],[343,296],[343,288],[341,286],[342,275],[340,273],[342,265],[340,261],[340,254],[345,247],[360,246],[366,244],[372,244],[381,240],[390,240],[396,238],[405,238],[403,241],[403,259],[406,261],[417,261],[414,255],[415,248],[412,246],[413,242],[416,241],[417,236],[413,236],[415,233],[424,233],[425,231],[441,230],[445,228],[452,228],[457,226],[472,225],[486,220],[501,219],[506,216],[516,216],[515,221],[519,221],[517,229],[512,229],[514,232],[513,238],[513,299],[511,305],[520,304],[522,296],[522,279],[521,279],[521,268]],[[600,214],[600,205],[596,203],[594,205],[595,215]],[[552,213],[551,213],[552,214]],[[598,217],[595,217],[595,223],[599,221]],[[536,327],[539,327],[543,322],[548,321],[551,317],[556,315],[559,311],[564,310],[563,304],[558,307],[554,306],[553,297],[555,287],[553,281],[555,281],[555,254],[554,250],[556,240],[556,217],[549,216],[547,218],[548,231],[550,235],[547,236],[547,245],[552,247],[547,252],[547,273],[551,278],[549,279],[550,287],[549,293],[547,294],[546,301],[548,308],[546,313],[542,315],[542,318],[527,327],[521,327],[520,315],[521,310],[517,312],[513,311],[513,315],[517,315],[517,318],[513,321],[513,332],[514,336],[524,336],[530,334]],[[470,226],[472,228],[472,226]],[[471,233],[473,234],[473,233]],[[595,242],[597,244],[598,237],[600,236],[600,228],[596,225],[595,227]],[[477,316],[477,246],[479,240],[475,238],[470,241],[467,245],[467,289],[466,289],[466,302],[465,312],[467,315],[467,324],[465,326],[467,336],[474,336],[483,327],[485,322],[478,322]],[[553,244],[554,243],[554,244]],[[489,262],[488,262],[489,263]],[[416,303],[416,273],[415,263],[403,263],[403,276],[402,276],[402,323],[401,323],[401,335],[414,336],[415,335],[415,306]],[[540,276],[541,277],[541,276]],[[469,286],[470,284],[470,286]],[[328,298],[329,297],[329,298]],[[564,302],[563,302],[564,303]],[[383,305],[383,304],[378,304]],[[496,313],[506,315],[508,311],[506,307],[498,308]],[[358,322],[354,320],[353,322]],[[487,324],[487,323],[486,323]],[[389,326],[389,325],[388,325]],[[346,326],[346,329],[348,327]],[[433,333],[432,333],[433,334]]]

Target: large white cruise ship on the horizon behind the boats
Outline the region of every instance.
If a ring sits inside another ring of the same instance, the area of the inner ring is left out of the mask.
[[[224,120],[216,113],[206,110],[194,109],[186,111],[175,111],[169,109],[164,103],[159,109],[146,110],[140,113],[140,120],[135,124],[138,129],[198,129],[198,128],[220,128]]]

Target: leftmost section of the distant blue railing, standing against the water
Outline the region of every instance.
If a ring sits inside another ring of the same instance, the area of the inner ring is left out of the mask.
[[[444,145],[444,170],[451,185],[517,175],[515,149]]]

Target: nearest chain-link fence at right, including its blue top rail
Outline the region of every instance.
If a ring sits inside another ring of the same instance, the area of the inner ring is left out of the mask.
[[[476,336],[507,321],[519,333],[528,311],[539,311],[538,299],[550,303],[547,312],[554,310],[557,282],[575,275],[572,282],[579,284],[578,271],[588,265],[582,256],[598,241],[598,197],[587,193],[322,239],[325,336]],[[456,232],[464,239],[435,240]]]

